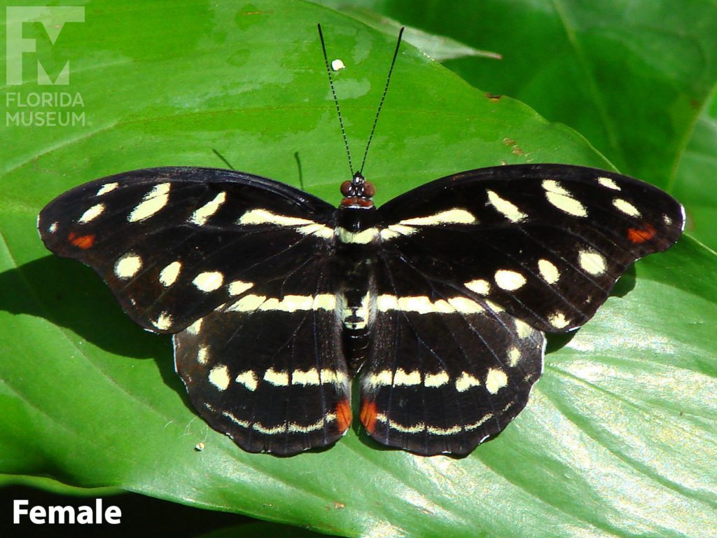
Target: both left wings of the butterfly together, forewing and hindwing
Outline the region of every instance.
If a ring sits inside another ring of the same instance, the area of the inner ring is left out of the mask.
[[[38,228],[89,265],[145,329],[174,336],[205,420],[252,452],[333,443],[351,423],[336,315],[333,215],[241,172],[159,168],[82,185]]]

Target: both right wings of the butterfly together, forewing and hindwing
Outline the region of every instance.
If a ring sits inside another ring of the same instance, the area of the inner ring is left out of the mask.
[[[386,445],[469,453],[526,405],[543,334],[584,324],[683,209],[641,181],[563,165],[467,171],[379,208],[361,422]]]

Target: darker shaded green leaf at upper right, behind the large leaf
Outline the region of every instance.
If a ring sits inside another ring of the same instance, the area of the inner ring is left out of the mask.
[[[571,126],[621,171],[661,187],[717,80],[714,1],[361,0],[349,12],[356,5],[498,52],[500,62],[446,66]]]

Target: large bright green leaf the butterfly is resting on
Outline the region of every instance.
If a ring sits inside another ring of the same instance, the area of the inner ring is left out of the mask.
[[[0,472],[115,486],[347,536],[708,535],[717,524],[716,257],[685,238],[638,263],[546,372],[505,433],[463,459],[384,450],[252,455],[194,413],[169,340],[120,311],[92,271],[47,255],[42,205],[82,181],[166,164],[221,166],[338,200],[348,176],[315,23],[357,156],[393,39],[303,2],[96,1],[38,56],[89,126],[5,126],[0,198]],[[74,24],[75,26],[72,26]],[[568,128],[491,100],[402,49],[366,174],[379,202],[462,169],[609,167]],[[30,74],[6,91],[47,90]],[[488,60],[485,60],[488,61]],[[54,90],[54,88],[53,88]],[[624,294],[624,295],[623,295]],[[204,442],[204,450],[194,449]]]

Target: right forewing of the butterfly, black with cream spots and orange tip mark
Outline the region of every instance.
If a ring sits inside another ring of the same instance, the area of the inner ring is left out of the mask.
[[[667,250],[684,225],[660,189],[560,164],[455,174],[379,213],[384,249],[548,332],[584,324],[630,264]]]

